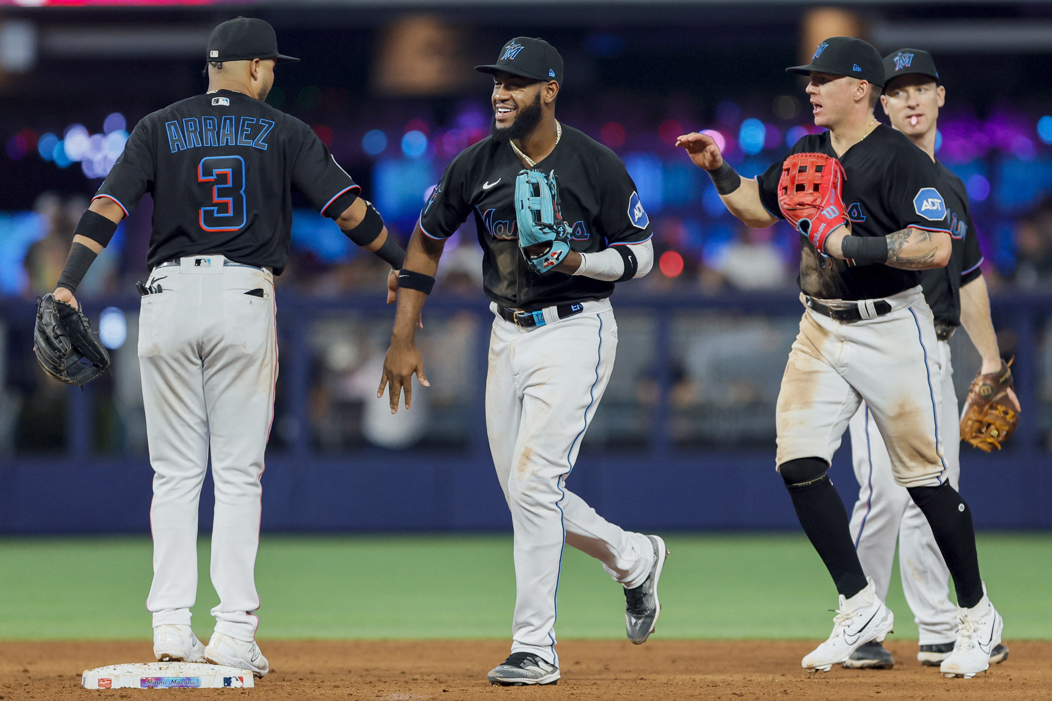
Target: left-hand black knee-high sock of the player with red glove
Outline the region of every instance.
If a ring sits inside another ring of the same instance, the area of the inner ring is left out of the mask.
[[[778,471],[804,533],[826,563],[836,591],[850,599],[866,589],[866,574],[851,541],[848,513],[826,474],[828,467],[821,458],[806,457],[789,460]]]

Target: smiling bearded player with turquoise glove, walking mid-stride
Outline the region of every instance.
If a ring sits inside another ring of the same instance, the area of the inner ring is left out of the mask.
[[[615,283],[647,274],[651,230],[625,165],[555,120],[563,59],[546,41],[515,37],[493,76],[492,135],[446,168],[421,213],[399,275],[399,307],[384,376],[391,412],[412,374],[427,387],[413,343],[443,245],[474,214],[493,327],[486,429],[514,527],[511,655],[494,685],[554,684],[555,596],[564,542],[598,558],[624,585],[628,638],[658,620],[665,542],[603,519],[566,489],[581,439],[613,368]],[[409,319],[408,325],[406,319]]]

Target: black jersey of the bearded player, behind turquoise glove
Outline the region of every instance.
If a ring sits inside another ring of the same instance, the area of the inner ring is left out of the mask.
[[[524,168],[507,142],[487,137],[461,151],[436,186],[420,215],[432,239],[447,239],[474,213],[486,295],[526,311],[584,300],[603,300],[613,283],[529,268],[519,250],[515,177]],[[594,253],[650,238],[650,223],[621,159],[580,130],[563,125],[554,150],[534,166],[554,171],[563,220],[572,227],[570,247]]]

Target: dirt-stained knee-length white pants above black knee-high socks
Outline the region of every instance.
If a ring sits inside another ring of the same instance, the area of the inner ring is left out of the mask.
[[[919,285],[886,300],[890,312],[853,324],[804,312],[775,410],[776,465],[804,457],[830,462],[866,401],[886,438],[895,482],[945,481],[942,356],[931,309]]]

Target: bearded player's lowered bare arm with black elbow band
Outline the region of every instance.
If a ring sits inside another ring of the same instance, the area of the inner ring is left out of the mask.
[[[439,270],[439,259],[445,248],[445,240],[427,236],[417,224],[409,245],[406,247],[405,264],[402,266],[399,283],[398,310],[394,313],[394,329],[391,331],[391,345],[384,358],[384,374],[380,378],[380,389],[377,397],[384,394],[384,387],[390,383],[389,398],[391,413],[398,412],[399,398],[405,391],[405,408],[412,406],[412,375],[424,387],[430,387],[424,375],[424,360],[417,350],[416,326],[424,301],[430,292],[426,284],[434,283],[434,273]],[[409,287],[416,285],[417,287]],[[427,288],[426,291],[418,289]]]

